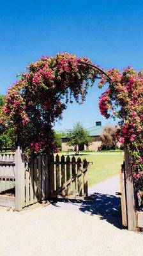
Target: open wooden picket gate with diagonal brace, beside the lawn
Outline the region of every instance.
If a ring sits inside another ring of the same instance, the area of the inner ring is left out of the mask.
[[[67,156],[50,157],[50,198],[87,198],[87,166],[89,162]]]

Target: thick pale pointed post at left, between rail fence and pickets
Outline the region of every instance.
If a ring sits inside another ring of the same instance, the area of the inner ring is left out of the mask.
[[[22,211],[25,205],[25,164],[22,150],[17,147],[15,153],[15,210]]]

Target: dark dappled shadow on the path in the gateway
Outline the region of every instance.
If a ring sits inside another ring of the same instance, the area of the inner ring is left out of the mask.
[[[68,200],[62,199],[52,202],[53,205],[62,207],[63,203],[77,207],[79,211],[99,215],[101,220],[107,220],[117,228],[123,229],[121,223],[121,202],[120,198],[114,195],[93,193],[89,200]],[[64,207],[65,209],[66,207]]]

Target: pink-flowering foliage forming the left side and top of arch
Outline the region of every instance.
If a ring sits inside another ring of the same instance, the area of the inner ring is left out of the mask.
[[[30,63],[27,73],[20,74],[19,81],[10,86],[1,123],[13,129],[24,151],[57,150],[52,125],[61,118],[68,101],[85,100],[87,88],[99,73],[79,65],[79,60],[91,63],[68,53],[43,56]]]

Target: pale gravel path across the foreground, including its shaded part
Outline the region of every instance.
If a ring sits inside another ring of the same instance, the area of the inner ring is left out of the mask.
[[[143,235],[121,229],[118,222],[119,198],[109,186],[115,180],[104,182],[104,190],[103,184],[95,185],[96,192],[93,186],[94,201],[60,202],[22,212],[1,209],[0,255],[142,255]]]

